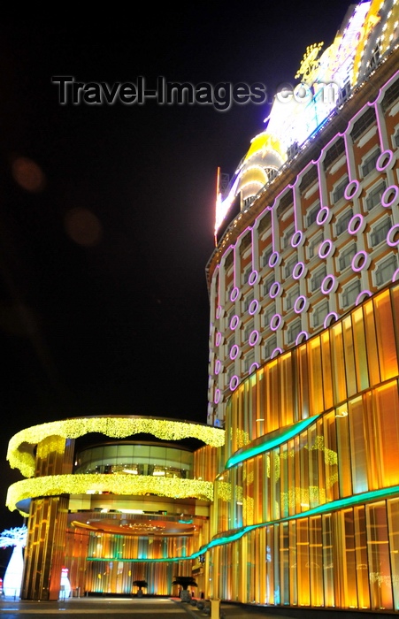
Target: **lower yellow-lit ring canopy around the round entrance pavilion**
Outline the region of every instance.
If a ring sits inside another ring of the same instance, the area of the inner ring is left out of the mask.
[[[60,494],[112,493],[120,495],[139,495],[147,493],[170,498],[188,499],[201,497],[213,500],[213,482],[199,479],[154,477],[152,475],[89,474],[51,475],[42,478],[23,479],[12,484],[7,493],[7,507],[18,509],[19,501],[35,499],[40,496],[59,496]],[[27,515],[28,516],[28,515]]]

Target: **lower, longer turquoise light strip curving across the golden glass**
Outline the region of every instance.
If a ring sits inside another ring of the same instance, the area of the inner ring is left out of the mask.
[[[338,499],[337,501],[331,501],[330,503],[324,503],[323,505],[318,505],[317,508],[308,509],[305,512],[301,512],[301,514],[295,514],[294,516],[287,516],[286,518],[280,518],[280,520],[270,520],[267,523],[260,524],[250,524],[249,526],[242,527],[242,529],[238,529],[231,535],[226,535],[224,538],[212,539],[209,544],[206,546],[202,546],[201,549],[194,553],[190,554],[187,557],[173,557],[170,559],[119,559],[115,558],[107,558],[107,559],[98,559],[88,557],[86,561],[121,561],[121,562],[131,562],[131,563],[159,563],[159,562],[176,562],[176,561],[188,561],[190,559],[196,559],[201,554],[206,553],[211,548],[215,546],[224,546],[225,544],[230,544],[231,542],[236,541],[237,539],[241,539],[246,533],[249,531],[253,531],[254,529],[263,529],[266,526],[271,526],[272,524],[280,524],[287,523],[289,520],[298,520],[299,518],[307,518],[308,516],[318,516],[319,514],[325,514],[326,512],[332,512],[336,509],[340,508],[349,508],[354,505],[358,505],[360,503],[365,503],[368,501],[372,501],[374,499],[386,499],[392,494],[399,494],[399,485],[393,485],[391,488],[381,488],[380,490],[373,490],[370,493],[362,493],[355,494],[354,496],[349,496],[346,499]]]

